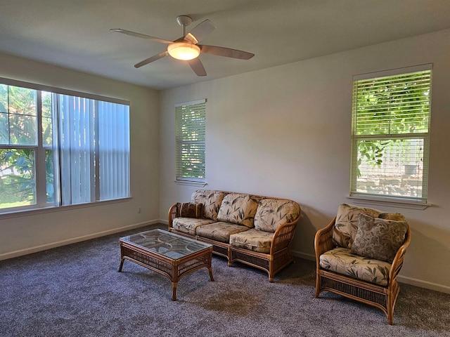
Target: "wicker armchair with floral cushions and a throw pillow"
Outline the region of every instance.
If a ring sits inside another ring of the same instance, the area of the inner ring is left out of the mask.
[[[397,275],[411,241],[400,213],[341,204],[330,224],[316,232],[316,298],[321,291],[373,305],[393,324]]]

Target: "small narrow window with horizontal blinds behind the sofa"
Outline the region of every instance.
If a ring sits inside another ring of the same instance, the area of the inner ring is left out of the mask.
[[[205,183],[206,100],[175,105],[176,180]]]

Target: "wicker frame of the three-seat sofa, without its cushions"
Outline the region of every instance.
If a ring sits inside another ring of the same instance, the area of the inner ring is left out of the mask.
[[[226,191],[225,194],[233,193]],[[254,195],[254,194],[252,194]],[[276,199],[276,200],[288,200],[276,197],[265,197],[257,195],[261,199]],[[300,206],[299,206],[300,207]],[[280,225],[274,237],[271,241],[271,247],[269,253],[260,253],[257,251],[250,251],[249,249],[243,249],[236,246],[231,246],[231,244],[226,244],[224,242],[218,242],[205,237],[200,237],[199,235],[188,234],[186,232],[180,232],[172,227],[174,218],[176,218],[176,204],[172,205],[169,209],[169,231],[176,234],[184,235],[185,237],[191,237],[201,242],[206,242],[207,244],[212,244],[212,253],[223,256],[228,259],[228,265],[235,262],[244,263],[252,267],[264,270],[269,275],[269,282],[274,282],[274,276],[280,272],[284,267],[289,265],[294,261],[293,255],[290,252],[290,244],[293,240],[295,234],[295,228],[297,227],[297,222],[301,217],[301,209],[299,216],[290,223],[284,223]]]

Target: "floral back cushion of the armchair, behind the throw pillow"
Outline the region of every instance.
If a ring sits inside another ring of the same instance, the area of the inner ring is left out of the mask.
[[[341,204],[333,228],[332,239],[335,246],[352,249],[354,238],[358,232],[359,214],[386,220],[405,220],[400,213],[386,213],[378,211],[378,209]]]

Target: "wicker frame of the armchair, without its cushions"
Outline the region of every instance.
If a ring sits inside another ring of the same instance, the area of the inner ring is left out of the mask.
[[[316,232],[316,237],[314,239],[314,249],[316,251],[315,297],[318,298],[322,291],[331,291],[338,295],[351,298],[352,300],[372,305],[383,310],[387,317],[387,322],[390,325],[393,325],[394,307],[400,290],[399,283],[397,282],[397,275],[403,266],[406,248],[411,242],[411,230],[409,226],[406,231],[404,244],[399,248],[392,262],[387,286],[380,286],[378,284],[372,284],[360,279],[354,279],[352,277],[340,275],[336,272],[324,270],[320,266],[319,257],[321,254],[335,248],[331,239],[335,220],[336,218],[334,218],[328,226]]]

